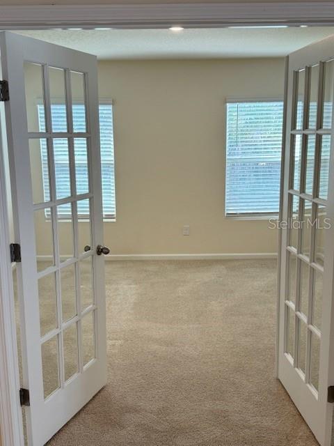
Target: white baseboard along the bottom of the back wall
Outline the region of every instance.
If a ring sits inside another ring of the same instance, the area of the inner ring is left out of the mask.
[[[70,256],[68,256],[70,259]],[[106,261],[121,260],[245,260],[276,259],[276,252],[246,252],[227,254],[109,254]],[[49,261],[52,256],[38,256],[38,261]]]

